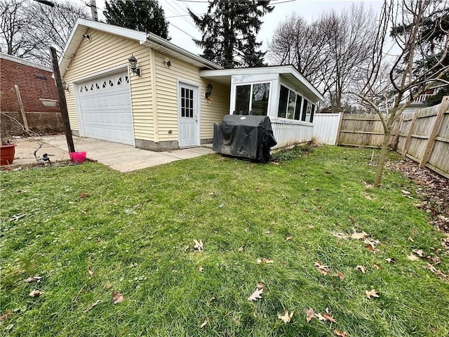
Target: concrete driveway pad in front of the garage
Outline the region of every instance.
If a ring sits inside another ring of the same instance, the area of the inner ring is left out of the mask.
[[[43,136],[43,147],[37,155],[48,153],[52,161],[69,159],[65,135]],[[208,147],[192,147],[189,149],[154,152],[136,149],[131,145],[112,143],[93,138],[73,137],[75,149],[87,152],[88,159],[98,161],[120,172],[130,172],[147,167],[167,164],[171,161],[199,157],[215,153]],[[22,138],[18,140],[13,166],[36,163],[33,152],[37,148],[35,140]]]

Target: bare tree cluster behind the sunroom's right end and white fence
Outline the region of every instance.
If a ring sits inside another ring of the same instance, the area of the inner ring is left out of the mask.
[[[328,11],[311,23],[292,15],[276,28],[268,58],[297,67],[340,112],[357,68],[370,60],[375,33],[375,15],[363,4]]]

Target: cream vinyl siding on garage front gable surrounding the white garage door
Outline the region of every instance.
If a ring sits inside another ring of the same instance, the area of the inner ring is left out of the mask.
[[[72,83],[114,67],[128,67],[128,58],[133,54],[142,74],[141,77],[130,74],[134,138],[154,140],[149,48],[138,41],[94,29],[88,29],[87,34],[91,40],[83,39],[64,77],[71,87],[70,92],[66,91],[66,98],[72,130],[79,130]]]

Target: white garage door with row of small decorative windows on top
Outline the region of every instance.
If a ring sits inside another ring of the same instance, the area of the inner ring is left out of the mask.
[[[134,144],[127,72],[86,81],[78,86],[83,136]]]

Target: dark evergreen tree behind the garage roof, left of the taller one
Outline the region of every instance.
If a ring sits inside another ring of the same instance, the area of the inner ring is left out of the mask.
[[[103,14],[110,25],[153,33],[168,39],[168,21],[157,0],[105,1]]]

